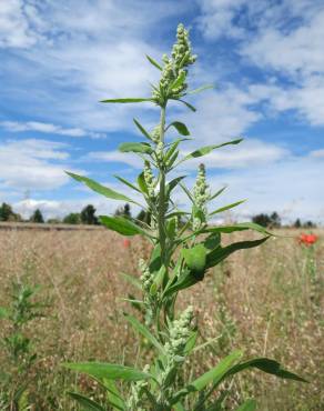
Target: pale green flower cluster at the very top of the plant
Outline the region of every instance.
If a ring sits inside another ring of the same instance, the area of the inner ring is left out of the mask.
[[[159,87],[154,88],[152,96],[156,103],[161,106],[164,104],[166,98],[179,99],[183,96],[188,88],[184,81],[186,77],[185,68],[196,60],[196,56],[192,54],[191,51],[189,32],[183,24],[178,26],[176,43],[172,48],[171,58],[164,54],[162,60],[164,66],[161,80]]]

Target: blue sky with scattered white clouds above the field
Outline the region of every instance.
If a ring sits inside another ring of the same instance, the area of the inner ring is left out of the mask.
[[[150,97],[145,54],[169,53],[179,22],[199,56],[191,87],[214,84],[190,98],[195,113],[171,107],[194,139],[182,154],[244,138],[204,158],[211,190],[227,186],[213,206],[324,222],[323,0],[0,0],[0,202],[47,218],[120,206],[64,170],[130,194],[113,174],[134,180],[141,162],[118,146],[141,141],[132,119],[152,129],[159,108],[99,101]],[[189,188],[198,164],[179,170]]]

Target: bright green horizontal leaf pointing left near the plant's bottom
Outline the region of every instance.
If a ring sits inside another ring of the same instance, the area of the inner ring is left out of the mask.
[[[151,374],[134,368],[107,362],[65,362],[62,365],[70,370],[88,374],[97,380],[140,381],[152,378]]]

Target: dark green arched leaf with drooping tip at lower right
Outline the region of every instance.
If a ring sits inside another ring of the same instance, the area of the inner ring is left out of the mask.
[[[241,364],[234,365],[232,369],[230,369],[224,378],[234,375],[237,372],[241,372],[243,370],[246,370],[249,368],[256,368],[263,372],[266,372],[267,374],[272,374],[279,378],[287,379],[287,380],[295,380],[301,382],[308,382],[302,377],[298,377],[287,370],[284,370],[280,362],[275,360],[271,360],[269,358],[256,358],[246,362],[243,362]]]

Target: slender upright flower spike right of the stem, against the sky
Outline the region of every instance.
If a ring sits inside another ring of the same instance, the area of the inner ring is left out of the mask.
[[[195,231],[201,227],[205,220],[206,202],[210,199],[209,186],[206,183],[206,172],[204,164],[199,166],[198,177],[193,188],[194,206],[198,212],[193,214],[192,229]]]

